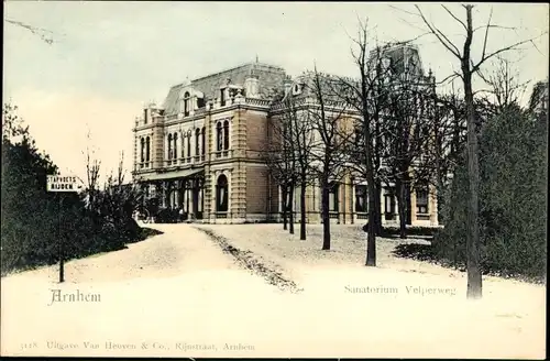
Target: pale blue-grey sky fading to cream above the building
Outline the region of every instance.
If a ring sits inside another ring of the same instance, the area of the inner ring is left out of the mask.
[[[443,8],[422,11],[455,44],[463,30]],[[449,10],[464,19],[460,4]],[[508,58],[531,85],[548,77],[549,6],[480,3],[474,26],[492,23],[487,53],[537,37]],[[311,69],[356,76],[351,57],[358,19],[369,19],[372,41],[405,41],[426,32],[413,3],[366,2],[113,2],[6,1],[3,102],[19,107],[41,150],[62,171],[84,177],[84,152],[101,160],[102,175],[120,152],[130,172],[134,119],[150,101],[162,103],[172,85],[246,62],[282,66],[289,75]],[[10,21],[43,29],[41,33]],[[483,32],[474,39],[479,58]],[[458,61],[432,35],[415,42],[425,68],[442,79]],[[475,57],[476,56],[476,57]],[[491,70],[486,63],[485,70]],[[480,81],[476,87],[483,87]],[[530,94],[530,87],[526,98]],[[89,135],[87,135],[89,134]],[[130,179],[130,173],[128,174]]]

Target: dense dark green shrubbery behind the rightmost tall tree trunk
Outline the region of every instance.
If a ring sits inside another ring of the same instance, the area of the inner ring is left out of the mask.
[[[485,127],[480,141],[482,270],[543,277],[547,238],[547,124],[508,108]],[[463,162],[464,163],[464,162]],[[465,263],[468,171],[461,166],[448,201],[446,228],[435,253]]]

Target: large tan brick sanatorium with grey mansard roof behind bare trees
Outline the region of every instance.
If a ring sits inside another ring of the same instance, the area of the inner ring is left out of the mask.
[[[413,53],[419,59],[418,52]],[[145,186],[147,197],[160,200],[161,208],[183,209],[187,219],[280,220],[282,192],[264,154],[274,141],[270,124],[284,111],[282,99],[310,100],[304,83],[304,77],[293,79],[283,68],[256,61],[173,86],[162,106],[148,105],[135,120],[134,180]],[[410,200],[409,223],[438,225],[431,187],[413,192]],[[397,223],[391,185],[380,201],[383,222]],[[320,207],[321,193],[314,184],[306,192],[308,222],[320,221]],[[299,211],[299,192],[293,208]],[[334,222],[364,222],[365,183],[352,174],[339,179],[330,193],[330,215]]]

